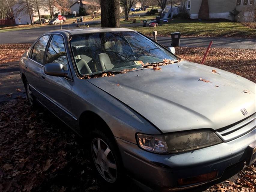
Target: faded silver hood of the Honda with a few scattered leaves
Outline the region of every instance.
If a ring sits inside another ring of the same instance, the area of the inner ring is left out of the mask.
[[[140,113],[163,133],[216,130],[255,113],[255,83],[188,61],[161,66],[161,70],[135,70],[88,81]]]

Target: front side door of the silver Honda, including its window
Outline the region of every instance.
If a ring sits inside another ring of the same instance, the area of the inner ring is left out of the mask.
[[[61,63],[69,73],[68,77],[51,76],[41,70],[40,89],[43,104],[61,120],[72,125],[76,118],[71,113],[71,90],[73,79],[67,58],[67,49],[62,35],[53,35],[45,54],[45,65],[48,63]]]

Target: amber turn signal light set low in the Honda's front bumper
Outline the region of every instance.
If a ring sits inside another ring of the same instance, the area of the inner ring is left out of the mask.
[[[195,176],[195,177],[178,179],[178,184],[179,185],[189,185],[189,184],[194,184],[194,183],[210,181],[217,177],[217,173],[218,173],[217,171],[214,171],[211,173],[205,173],[205,174]]]

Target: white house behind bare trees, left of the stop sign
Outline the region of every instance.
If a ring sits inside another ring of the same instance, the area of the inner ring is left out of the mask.
[[[40,13],[41,18],[44,18],[44,16],[46,16],[46,15],[49,15],[49,16],[51,15],[50,8],[48,7],[48,4],[40,4],[39,6],[40,6],[39,13]],[[20,7],[21,7],[20,3],[16,3],[12,7],[13,12],[14,12],[15,23],[18,25],[31,24],[28,10],[20,9]],[[55,13],[60,12],[60,9],[58,7],[52,7],[52,9],[53,9],[52,10],[53,15]],[[36,7],[32,7],[32,22],[35,22],[38,19],[39,19],[38,10]]]

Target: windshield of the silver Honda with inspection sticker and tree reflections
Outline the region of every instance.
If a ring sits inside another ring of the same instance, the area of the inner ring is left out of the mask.
[[[71,47],[81,75],[140,68],[163,59],[177,58],[137,32],[73,35]]]

